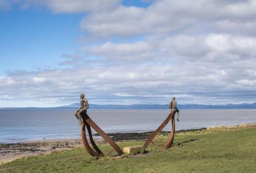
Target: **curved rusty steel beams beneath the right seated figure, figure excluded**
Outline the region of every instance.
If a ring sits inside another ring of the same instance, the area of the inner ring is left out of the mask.
[[[169,113],[166,120],[163,121],[163,123],[146,140],[146,142],[144,144],[145,147],[147,147],[150,144],[150,142],[152,142],[152,144],[153,144],[152,140],[157,136],[158,133],[160,133],[160,131],[163,128],[165,128],[165,126],[169,123],[170,120],[171,120],[171,125],[172,125],[171,134],[170,134],[168,140],[166,141],[166,143],[163,145],[163,148],[169,148],[169,147],[171,147],[171,145],[173,145],[174,134],[175,134],[175,120],[174,120],[175,113],[176,112]]]

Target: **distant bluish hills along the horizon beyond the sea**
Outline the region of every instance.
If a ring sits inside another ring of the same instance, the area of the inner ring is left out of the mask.
[[[70,104],[60,107],[22,107],[22,108],[0,108],[0,110],[76,110],[80,103]],[[168,109],[168,104],[89,104],[90,109]],[[178,104],[178,109],[256,109],[256,102],[252,104],[224,104],[224,105],[204,105],[204,104]]]

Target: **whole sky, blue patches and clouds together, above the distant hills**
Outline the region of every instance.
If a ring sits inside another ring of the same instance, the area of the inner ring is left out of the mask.
[[[0,0],[0,107],[256,102],[256,1]]]

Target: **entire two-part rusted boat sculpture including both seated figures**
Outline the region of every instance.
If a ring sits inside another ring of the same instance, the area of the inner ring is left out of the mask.
[[[121,150],[121,148],[118,147],[118,145],[115,144],[114,140],[112,140],[111,137],[107,136],[107,134],[104,133],[104,131],[101,128],[99,128],[99,126],[96,125],[96,123],[93,120],[91,120],[91,118],[87,115],[87,109],[89,106],[88,106],[87,99],[85,99],[85,95],[80,94],[80,99],[81,99],[81,101],[80,101],[81,106],[76,111],[75,116],[79,120],[79,125],[81,125],[82,141],[83,141],[83,145],[84,145],[85,149],[87,150],[87,152],[90,153],[91,156],[104,156],[104,153],[101,152],[101,150],[99,149],[99,147],[95,144],[95,141],[93,140],[93,136],[91,134],[91,127],[92,127],[113,148],[113,150],[111,152],[109,152],[107,155],[110,155],[114,150],[118,153],[118,155],[122,155],[123,151]],[[171,134],[170,134],[168,140],[166,141],[166,143],[163,145],[163,148],[166,149],[173,145],[174,134],[175,134],[174,117],[175,117],[176,112],[177,112],[177,121],[179,121],[179,110],[177,109],[177,102],[175,101],[175,97],[173,98],[173,101],[169,102],[169,109],[171,109],[171,113],[169,113],[166,120],[163,121],[163,123],[157,128],[157,130],[154,131],[149,136],[149,138],[147,139],[147,141],[144,144],[145,148],[150,144],[150,142],[152,142],[152,144],[154,144],[152,140],[155,138],[155,136],[157,136],[158,133],[160,133],[160,131],[163,128],[165,128],[165,126],[169,123],[170,120],[171,120],[171,124],[172,124]],[[92,148],[87,140],[86,129],[88,131],[88,135],[89,135],[89,139],[90,139]]]

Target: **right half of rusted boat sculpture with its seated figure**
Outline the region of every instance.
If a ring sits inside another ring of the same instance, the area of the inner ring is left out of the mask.
[[[163,121],[163,123],[157,128],[156,131],[154,131],[149,138],[145,141],[145,148],[150,144],[150,142],[152,142],[153,145],[155,145],[153,143],[153,139],[157,136],[158,133],[161,132],[161,130],[163,128],[165,128],[165,126],[169,123],[169,121],[171,120],[171,133],[170,136],[168,138],[168,140],[166,141],[166,143],[163,145],[163,149],[167,149],[169,147],[171,147],[173,145],[173,140],[174,140],[174,134],[175,134],[175,113],[177,112],[177,121],[179,121],[179,109],[177,109],[177,102],[175,101],[175,97],[173,98],[173,101],[169,102],[169,109],[171,109],[171,113],[169,113],[168,117],[166,118],[165,121]]]

